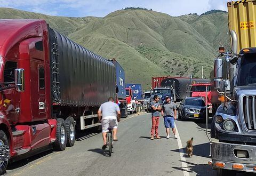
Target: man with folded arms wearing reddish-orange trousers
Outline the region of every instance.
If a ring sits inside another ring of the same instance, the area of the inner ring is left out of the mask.
[[[159,125],[159,111],[161,111],[161,106],[158,102],[159,97],[154,96],[154,101],[150,102],[152,111],[152,127],[151,127],[151,140],[154,140],[154,133],[156,134],[156,139],[161,139],[158,135],[158,125]]]

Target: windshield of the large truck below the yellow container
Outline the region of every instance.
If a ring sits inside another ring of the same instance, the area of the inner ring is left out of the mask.
[[[237,86],[256,83],[256,55],[245,54],[241,59],[241,67],[238,70]],[[239,63],[238,63],[239,64]]]

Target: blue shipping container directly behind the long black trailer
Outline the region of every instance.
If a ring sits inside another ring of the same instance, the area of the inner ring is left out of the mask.
[[[125,100],[126,98],[126,94],[125,94],[125,73],[124,73],[124,69],[121,67],[121,65],[115,60],[115,59],[111,59],[110,61],[112,61],[115,65],[115,69],[116,69],[116,84],[118,86],[118,93],[117,93],[117,98],[119,100],[123,99]]]

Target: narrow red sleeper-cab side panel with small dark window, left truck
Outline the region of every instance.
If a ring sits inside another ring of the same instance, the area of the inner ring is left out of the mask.
[[[31,115],[33,121],[46,119],[45,68],[43,41],[35,41],[30,49]]]

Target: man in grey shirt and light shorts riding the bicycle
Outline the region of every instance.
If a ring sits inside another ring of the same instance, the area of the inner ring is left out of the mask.
[[[117,122],[120,121],[121,112],[119,106],[114,101],[114,98],[109,97],[108,102],[103,103],[98,110],[98,119],[102,127],[103,150],[107,148],[107,132],[109,127],[113,129],[113,140],[117,141]]]

